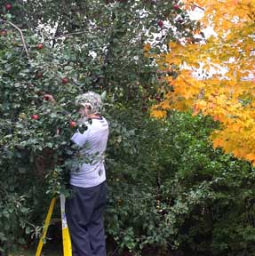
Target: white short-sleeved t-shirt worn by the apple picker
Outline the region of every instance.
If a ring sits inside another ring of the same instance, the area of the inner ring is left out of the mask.
[[[93,118],[92,124],[85,124],[88,129],[83,133],[77,131],[71,140],[79,146],[79,154],[86,158],[86,163],[80,163],[78,170],[71,170],[70,184],[76,187],[91,188],[106,180],[104,154],[109,129],[107,120],[102,116]]]

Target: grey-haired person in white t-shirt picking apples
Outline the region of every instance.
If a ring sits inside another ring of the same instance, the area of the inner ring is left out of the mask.
[[[101,99],[95,92],[77,97],[79,126],[71,140],[79,148],[84,163],[70,172],[73,196],[67,200],[66,214],[73,256],[105,256],[103,212],[107,200],[104,154],[108,142],[108,122],[100,115]],[[81,157],[79,157],[81,158]]]

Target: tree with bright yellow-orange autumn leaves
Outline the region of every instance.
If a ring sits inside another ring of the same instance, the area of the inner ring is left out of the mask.
[[[196,38],[170,43],[170,52],[158,59],[171,92],[155,116],[166,109],[192,109],[212,116],[220,128],[211,133],[215,148],[255,160],[253,1],[183,1],[189,12],[203,13]],[[211,28],[211,36],[204,29]]]

